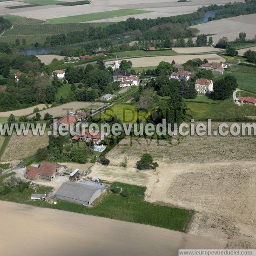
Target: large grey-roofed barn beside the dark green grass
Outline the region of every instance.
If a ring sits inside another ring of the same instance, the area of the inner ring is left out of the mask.
[[[65,182],[55,194],[55,197],[67,202],[89,206],[101,195],[101,188],[77,182]]]

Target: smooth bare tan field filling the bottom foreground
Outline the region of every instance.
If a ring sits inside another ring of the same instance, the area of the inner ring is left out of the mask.
[[[153,226],[0,201],[4,256],[177,256],[220,249],[212,240]]]

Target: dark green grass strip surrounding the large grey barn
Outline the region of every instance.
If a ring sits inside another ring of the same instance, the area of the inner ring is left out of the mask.
[[[7,195],[0,195],[0,200],[22,202],[34,206],[47,207],[72,211],[82,214],[101,216],[121,221],[142,223],[165,229],[185,231],[189,222],[190,212],[186,209],[177,209],[167,206],[155,205],[144,201],[146,188],[115,182],[112,186],[119,186],[128,191],[128,197],[122,197],[109,192],[101,195],[93,207],[84,207],[71,202],[56,200],[58,203],[50,204],[47,201],[30,200],[34,189],[29,187],[22,193],[17,188],[12,189]],[[45,193],[51,190],[48,187],[40,187],[36,193]],[[100,201],[100,199],[102,199]],[[100,202],[99,202],[100,201]]]

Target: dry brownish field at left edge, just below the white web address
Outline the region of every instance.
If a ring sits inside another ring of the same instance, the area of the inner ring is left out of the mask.
[[[47,134],[33,136],[29,131],[27,136],[12,135],[8,145],[1,157],[2,161],[22,160],[36,153],[38,148],[44,148],[48,145]]]

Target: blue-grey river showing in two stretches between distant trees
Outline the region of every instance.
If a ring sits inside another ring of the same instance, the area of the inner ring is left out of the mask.
[[[206,12],[204,17],[200,19],[193,20],[192,25],[205,23],[208,21],[209,17],[214,18],[216,11]],[[60,53],[65,48],[81,48],[81,45],[68,45],[61,47],[39,47],[39,48],[30,48],[30,49],[20,49],[20,51],[25,55],[40,55],[40,54],[49,54],[51,52]]]

